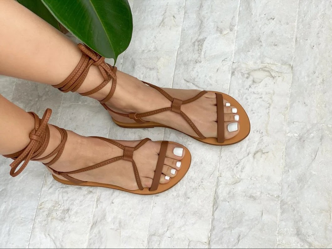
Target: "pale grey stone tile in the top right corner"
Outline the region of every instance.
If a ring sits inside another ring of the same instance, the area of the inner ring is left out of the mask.
[[[332,124],[330,1],[300,1],[290,121]]]

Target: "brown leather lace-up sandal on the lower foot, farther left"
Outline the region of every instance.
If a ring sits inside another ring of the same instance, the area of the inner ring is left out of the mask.
[[[179,170],[178,174],[175,177],[171,178],[171,180],[168,183],[159,184],[160,176],[162,173],[162,168],[164,165],[164,160],[166,157],[168,143],[178,144],[175,142],[161,141],[161,147],[160,147],[156,170],[155,170],[154,177],[152,180],[152,186],[150,188],[143,188],[135,161],[133,160],[133,153],[135,150],[137,150],[139,147],[143,146],[144,143],[146,143],[150,139],[145,138],[141,142],[139,142],[135,147],[129,147],[129,146],[124,146],[112,139],[93,136],[95,138],[99,138],[106,142],[112,143],[112,144],[118,146],[119,148],[123,149],[124,150],[123,156],[114,157],[114,158],[105,160],[103,162],[100,162],[98,164],[95,164],[95,165],[92,165],[89,167],[85,167],[85,168],[82,168],[79,170],[74,170],[74,171],[69,171],[69,172],[56,171],[56,170],[52,169],[50,166],[53,163],[55,163],[62,154],[62,151],[64,149],[64,146],[65,146],[65,143],[67,140],[67,131],[65,129],[59,128],[59,127],[53,125],[55,128],[58,129],[58,131],[61,134],[61,143],[57,146],[57,148],[53,152],[51,152],[47,156],[39,158],[41,156],[41,154],[46,150],[46,147],[49,142],[50,133],[49,133],[49,128],[47,126],[47,122],[51,116],[51,113],[52,113],[51,109],[47,109],[45,111],[42,119],[39,119],[37,114],[30,112],[30,114],[35,118],[35,128],[30,132],[30,135],[29,135],[30,139],[31,139],[30,143],[28,144],[28,146],[25,149],[23,149],[17,153],[10,154],[10,155],[4,155],[5,157],[14,159],[14,162],[10,164],[10,166],[11,166],[10,175],[11,176],[15,177],[15,176],[19,175],[24,170],[24,168],[27,166],[27,164],[29,163],[30,160],[41,161],[41,160],[50,158],[52,156],[55,156],[50,162],[44,163],[44,165],[52,173],[53,178],[60,183],[64,183],[64,184],[68,184],[68,185],[77,185],[77,186],[105,187],[105,188],[110,188],[110,189],[118,189],[118,190],[126,191],[126,192],[133,193],[133,194],[139,194],[139,195],[154,195],[154,194],[159,194],[161,192],[164,192],[164,191],[174,187],[185,176],[185,174],[187,173],[187,171],[190,167],[191,154],[190,154],[189,150],[186,147],[184,147],[185,156],[181,160],[181,170]],[[72,174],[77,174],[77,173],[85,172],[88,170],[96,169],[96,168],[111,164],[111,163],[119,161],[119,160],[125,160],[125,161],[132,162],[136,183],[139,188],[138,190],[127,190],[127,189],[124,189],[124,188],[121,188],[121,187],[118,187],[115,185],[111,185],[111,184],[81,181],[79,179],[76,179],[76,178],[70,176]],[[22,166],[19,169],[17,169],[23,161],[24,161],[24,163],[22,164]],[[55,175],[65,178],[66,180],[60,179],[59,177],[57,177]]]

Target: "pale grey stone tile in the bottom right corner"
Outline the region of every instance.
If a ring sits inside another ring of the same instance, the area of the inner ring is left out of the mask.
[[[279,243],[332,245],[332,125],[288,123]]]

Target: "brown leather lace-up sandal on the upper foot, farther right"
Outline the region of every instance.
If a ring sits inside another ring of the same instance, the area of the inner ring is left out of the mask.
[[[188,116],[183,111],[181,111],[182,105],[185,105],[185,104],[188,104],[190,102],[197,100],[198,98],[202,97],[208,91],[202,91],[193,98],[190,98],[187,100],[181,100],[181,99],[173,98],[168,93],[166,93],[163,89],[161,89],[155,85],[142,81],[144,84],[147,84],[147,85],[153,87],[154,89],[159,91],[162,95],[164,95],[170,102],[172,102],[171,106],[161,108],[158,110],[154,110],[154,111],[150,111],[150,112],[146,112],[146,113],[139,113],[139,114],[138,113],[124,114],[124,113],[119,113],[119,112],[113,111],[105,103],[111,99],[111,97],[113,96],[113,94],[115,92],[115,88],[116,88],[116,84],[117,84],[117,76],[116,76],[117,67],[111,66],[108,63],[106,63],[104,61],[104,59],[105,59],[104,57],[102,57],[98,53],[94,52],[89,47],[87,47],[83,44],[78,44],[78,47],[82,51],[82,57],[81,57],[80,62],[78,63],[76,68],[73,70],[73,72],[62,83],[60,83],[58,85],[54,85],[54,87],[58,88],[62,92],[69,92],[69,91],[75,92],[82,85],[82,83],[89,71],[90,66],[91,65],[98,66],[104,77],[104,81],[98,87],[92,89],[89,92],[81,93],[81,95],[88,96],[88,95],[94,94],[94,93],[98,92],[99,90],[101,90],[104,86],[106,86],[107,83],[111,81],[111,79],[113,79],[113,84],[112,84],[110,93],[106,96],[105,99],[101,100],[100,103],[103,105],[103,107],[106,110],[108,110],[114,114],[129,118],[136,122],[136,123],[123,123],[123,122],[119,122],[119,121],[115,120],[114,118],[112,118],[114,123],[116,123],[117,125],[124,127],[124,128],[165,127],[165,128],[174,129],[173,127],[170,127],[170,126],[167,126],[164,124],[144,121],[142,119],[144,117],[152,116],[157,113],[171,111],[171,112],[175,112],[175,113],[178,113],[179,115],[181,115],[183,117],[183,119],[193,128],[193,130],[197,134],[197,136],[191,136],[191,135],[189,135],[189,136],[195,138],[196,140],[204,142],[204,143],[208,143],[208,144],[212,144],[212,145],[230,145],[230,144],[234,144],[234,143],[238,143],[238,142],[242,141],[244,138],[246,138],[249,135],[250,122],[249,122],[248,115],[246,114],[243,107],[234,98],[230,97],[229,95],[227,95],[225,93],[220,93],[220,92],[210,91],[210,92],[215,93],[216,99],[217,99],[217,138],[205,137],[199,131],[199,129],[196,127],[196,125],[188,118]],[[238,123],[240,124],[239,133],[236,136],[234,136],[230,139],[226,139],[226,140],[224,138],[225,131],[224,131],[223,98],[226,98],[231,106],[234,106],[235,108],[237,108],[237,113],[241,117],[240,120],[238,121]]]

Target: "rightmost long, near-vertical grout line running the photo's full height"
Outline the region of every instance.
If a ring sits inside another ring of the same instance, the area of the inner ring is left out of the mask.
[[[288,98],[288,110],[287,110],[287,120],[286,120],[286,127],[285,127],[285,145],[283,153],[286,153],[286,138],[287,138],[287,124],[289,119],[289,110],[290,110],[290,96],[291,96],[291,86],[293,83],[293,65],[294,65],[294,55],[295,55],[295,45],[296,45],[296,34],[297,34],[297,25],[298,25],[298,11],[300,8],[300,0],[297,1],[297,11],[296,11],[296,20],[295,20],[295,30],[294,30],[294,39],[293,39],[293,60],[291,64],[291,83],[290,83],[290,95]],[[283,162],[282,162],[282,171],[281,171],[281,180],[280,180],[280,194],[279,194],[279,210],[278,210],[278,217],[277,217],[277,241],[276,241],[276,248],[278,247],[279,243],[279,223],[280,223],[280,216],[281,216],[281,195],[282,195],[282,183],[283,183],[283,171],[286,163],[286,155],[284,154]]]

